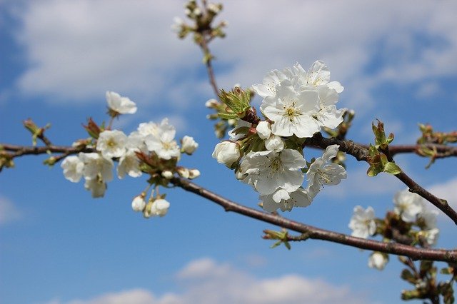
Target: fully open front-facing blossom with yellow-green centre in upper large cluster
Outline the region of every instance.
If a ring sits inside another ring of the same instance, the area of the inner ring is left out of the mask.
[[[319,98],[316,91],[296,92],[290,81],[276,86],[276,95],[267,96],[260,106],[263,115],[274,123],[271,133],[277,136],[311,137],[321,130],[316,114]]]

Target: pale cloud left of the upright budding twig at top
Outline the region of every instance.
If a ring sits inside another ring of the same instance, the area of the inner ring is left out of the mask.
[[[19,39],[29,69],[19,79],[26,93],[91,98],[105,90],[151,96],[164,86],[166,69],[191,45],[171,33],[177,1],[29,1],[21,11]]]

